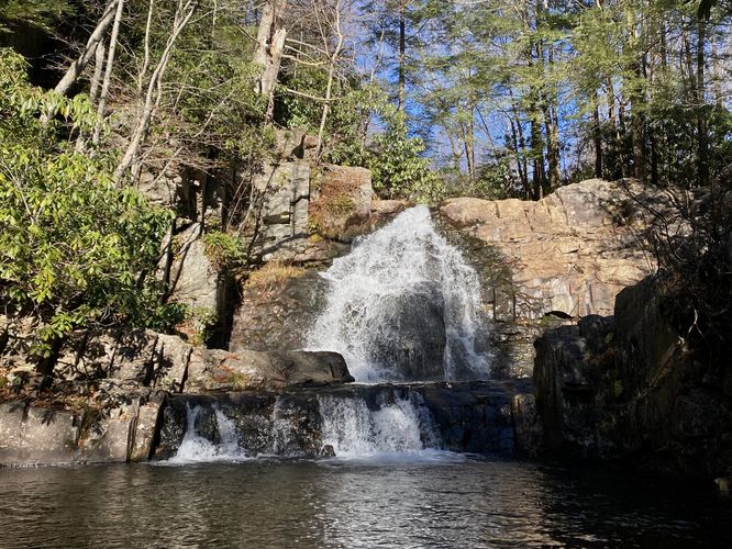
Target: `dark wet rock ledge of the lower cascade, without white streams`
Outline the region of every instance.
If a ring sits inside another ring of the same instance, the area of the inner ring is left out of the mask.
[[[411,403],[423,416],[424,442],[453,451],[512,456],[517,451],[517,434],[525,433],[528,427],[523,416],[518,417],[517,426],[511,400],[514,394],[530,390],[528,380],[512,380],[171,395],[163,413],[160,444],[155,455],[169,458],[176,453],[188,429],[191,411],[196,410],[195,434],[212,444],[222,439],[218,412],[233,423],[235,442],[246,456],[315,458],[329,455],[323,440],[329,412],[322,410],[324,402],[340,401],[354,414],[371,411],[378,415],[384,407],[401,401],[402,405]],[[369,425],[352,427],[368,429]],[[343,435],[358,437],[359,434]]]

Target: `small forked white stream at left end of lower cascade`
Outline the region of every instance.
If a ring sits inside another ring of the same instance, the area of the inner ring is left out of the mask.
[[[242,461],[246,459],[244,450],[239,446],[234,423],[214,407],[217,425],[219,427],[220,442],[196,434],[196,419],[201,413],[201,406],[188,407],[188,425],[178,451],[167,460],[167,463],[184,464],[201,461]]]

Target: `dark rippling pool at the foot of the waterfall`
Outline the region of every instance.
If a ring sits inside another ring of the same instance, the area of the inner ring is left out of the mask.
[[[732,502],[463,458],[0,470],[2,547],[730,547]]]

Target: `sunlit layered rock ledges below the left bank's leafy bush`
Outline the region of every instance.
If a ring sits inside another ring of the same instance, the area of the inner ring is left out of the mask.
[[[3,361],[11,373],[30,370],[23,355],[12,349],[5,349]],[[88,399],[87,406],[44,408],[23,401],[0,405],[0,464],[146,460],[169,393],[275,391],[353,381],[335,352],[232,354],[149,330],[71,338],[56,373],[59,385]]]

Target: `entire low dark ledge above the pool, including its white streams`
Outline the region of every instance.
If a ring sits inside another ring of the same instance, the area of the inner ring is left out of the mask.
[[[157,458],[187,463],[268,456],[510,452],[510,401],[525,390],[521,383],[353,384],[282,393],[171,395],[162,417]]]

